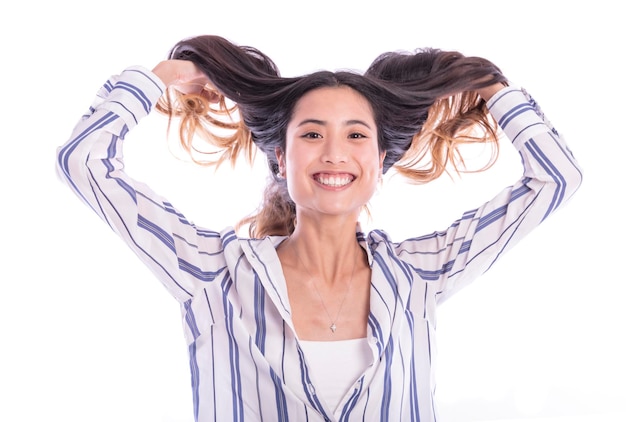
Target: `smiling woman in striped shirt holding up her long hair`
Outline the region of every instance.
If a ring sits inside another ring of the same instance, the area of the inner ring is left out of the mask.
[[[258,50],[195,37],[108,81],[58,171],[180,302],[196,420],[431,421],[437,305],[581,181],[534,101],[507,85],[489,61],[438,50],[384,54],[363,75],[282,78]],[[196,227],[124,173],[122,139],[154,108],[182,117],[190,152],[199,134],[219,162],[266,155],[250,238]],[[433,180],[498,125],[524,164],[514,186],[445,231],[398,243],[360,232],[389,168]]]

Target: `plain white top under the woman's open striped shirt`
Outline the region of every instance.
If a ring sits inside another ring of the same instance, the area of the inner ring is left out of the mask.
[[[342,341],[300,341],[311,368],[315,394],[333,409],[372,364],[374,357],[366,338]]]

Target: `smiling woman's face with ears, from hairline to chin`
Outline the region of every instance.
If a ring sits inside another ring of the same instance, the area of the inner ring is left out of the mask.
[[[296,104],[277,150],[298,212],[358,218],[376,190],[384,153],[369,102],[348,87],[318,88]]]

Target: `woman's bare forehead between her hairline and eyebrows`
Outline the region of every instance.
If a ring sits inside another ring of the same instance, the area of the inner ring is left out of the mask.
[[[350,87],[323,87],[307,92],[298,100],[292,120],[299,117],[358,117],[374,121],[374,112],[367,98]]]

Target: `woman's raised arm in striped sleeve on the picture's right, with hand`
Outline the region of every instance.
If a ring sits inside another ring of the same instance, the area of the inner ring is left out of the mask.
[[[523,89],[495,84],[479,91],[519,151],[523,175],[446,231],[409,239],[398,252],[444,300],[487,271],[576,192],[582,172],[560,134]],[[501,142],[505,142],[502,139]]]

